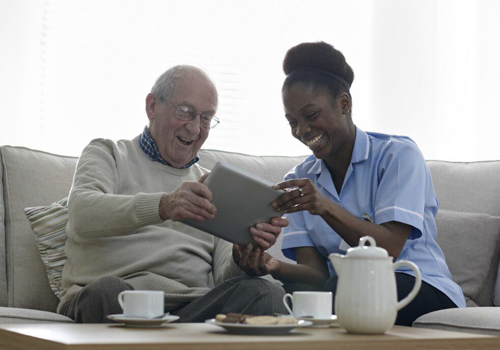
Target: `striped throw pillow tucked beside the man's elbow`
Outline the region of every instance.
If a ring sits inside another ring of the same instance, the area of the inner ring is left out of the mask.
[[[24,208],[24,213],[35,234],[50,288],[55,296],[61,299],[66,293],[61,285],[61,276],[67,260],[64,245],[68,223],[68,198],[49,206]]]

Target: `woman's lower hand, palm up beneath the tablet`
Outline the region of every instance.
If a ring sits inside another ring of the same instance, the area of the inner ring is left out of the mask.
[[[260,247],[252,250],[251,243],[246,247],[233,245],[233,261],[248,276],[272,275],[280,268],[280,261],[274,259]]]

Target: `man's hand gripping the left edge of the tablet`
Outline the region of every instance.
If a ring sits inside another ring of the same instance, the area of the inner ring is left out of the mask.
[[[203,184],[207,176],[203,175],[198,181],[183,182],[174,192],[164,194],[158,208],[161,220],[213,219],[217,209],[211,203],[212,192]]]

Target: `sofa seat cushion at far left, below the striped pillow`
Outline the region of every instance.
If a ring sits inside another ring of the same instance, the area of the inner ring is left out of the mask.
[[[73,323],[69,317],[57,313],[0,307],[0,324],[46,324],[46,323]]]

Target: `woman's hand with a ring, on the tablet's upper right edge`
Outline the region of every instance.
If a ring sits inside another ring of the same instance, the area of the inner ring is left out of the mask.
[[[277,183],[275,190],[295,187],[271,203],[275,211],[291,213],[307,210],[313,215],[322,216],[331,201],[323,196],[310,179],[293,179]]]

